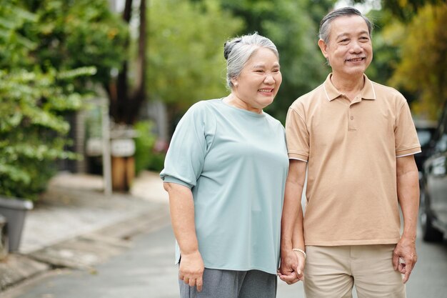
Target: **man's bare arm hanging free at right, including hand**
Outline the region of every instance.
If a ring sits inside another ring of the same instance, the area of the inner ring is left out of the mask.
[[[393,253],[393,266],[402,274],[403,283],[410,278],[411,270],[417,262],[416,227],[419,209],[418,168],[413,155],[398,157],[397,195],[403,214],[403,234]],[[403,259],[403,263],[399,259]]]

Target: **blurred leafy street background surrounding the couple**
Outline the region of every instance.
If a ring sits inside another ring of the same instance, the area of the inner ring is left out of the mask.
[[[281,56],[283,83],[266,112],[284,123],[288,106],[331,71],[318,25],[342,6],[376,24],[368,77],[410,104],[423,152],[416,154],[421,262],[408,297],[442,297],[447,4],[440,0],[0,0],[0,297],[177,297],[158,175],[176,124],[196,101],[229,93],[224,42],[254,31]],[[91,259],[129,243],[136,246],[91,269]],[[79,267],[89,270],[2,296],[36,271]],[[302,297],[301,287],[280,284],[278,297]]]

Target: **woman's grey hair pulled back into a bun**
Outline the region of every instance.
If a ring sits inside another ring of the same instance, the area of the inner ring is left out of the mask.
[[[236,79],[241,74],[243,66],[259,48],[271,49],[279,59],[275,44],[257,32],[226,41],[224,57],[226,59],[226,86],[228,89],[233,88],[231,79]]]

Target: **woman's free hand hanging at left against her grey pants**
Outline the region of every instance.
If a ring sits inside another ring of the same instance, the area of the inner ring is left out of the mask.
[[[204,269],[204,261],[198,250],[191,254],[181,254],[179,279],[189,284],[189,287],[195,286],[197,292],[202,291]]]

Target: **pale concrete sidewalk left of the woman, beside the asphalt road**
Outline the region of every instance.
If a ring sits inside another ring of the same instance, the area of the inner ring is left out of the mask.
[[[129,248],[129,239],[169,224],[158,173],[142,172],[130,194],[102,192],[100,176],[61,173],[26,214],[19,252],[0,262],[0,292],[59,268],[86,269]],[[0,294],[1,296],[2,294]]]

